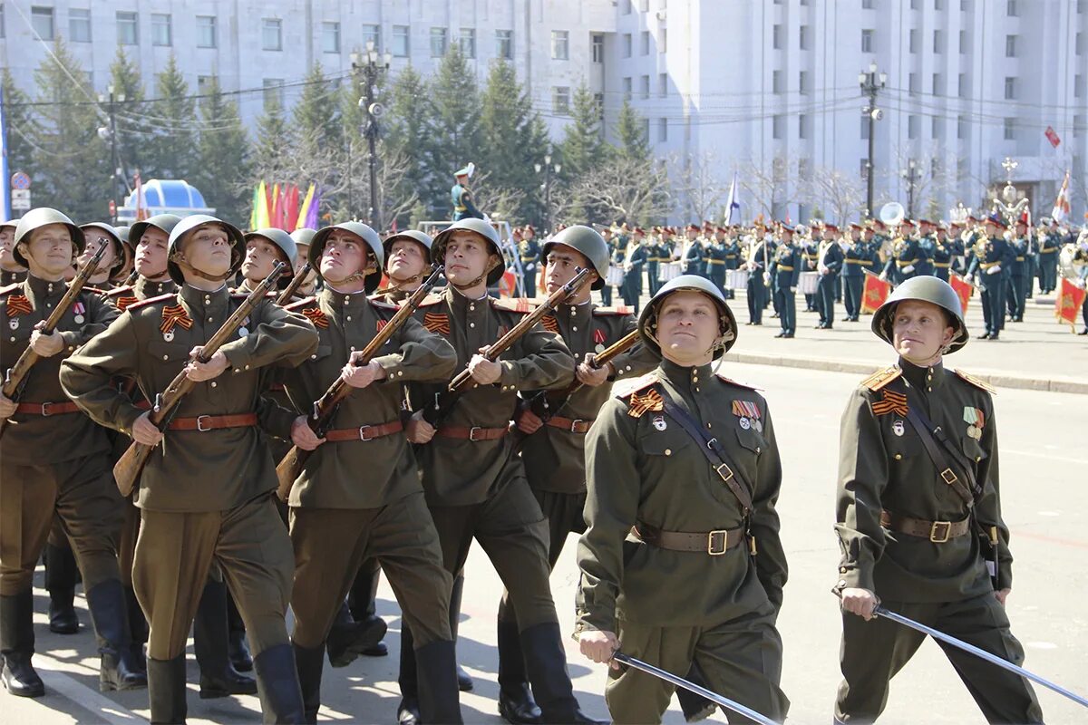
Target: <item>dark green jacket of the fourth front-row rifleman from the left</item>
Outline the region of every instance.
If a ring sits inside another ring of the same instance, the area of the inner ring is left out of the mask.
[[[485,297],[467,299],[453,287],[424,310],[424,326],[438,333],[457,351],[457,371],[465,370],[480,348],[509,332],[524,314],[515,302]],[[570,385],[574,359],[556,335],[536,325],[500,357],[498,383],[477,387],[460,397],[442,423],[499,428],[509,425],[518,390],[551,390]],[[446,385],[415,383],[410,400],[433,401]],[[440,425],[441,427],[441,425]],[[423,489],[430,505],[471,505],[493,495],[492,485],[510,457],[510,437],[470,442],[435,435],[418,447]]]

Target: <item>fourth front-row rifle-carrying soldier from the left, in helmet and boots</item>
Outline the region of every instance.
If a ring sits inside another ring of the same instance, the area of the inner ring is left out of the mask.
[[[442,301],[428,308],[424,326],[457,350],[458,368],[470,371],[479,387],[455,400],[437,398],[445,385],[413,384],[410,400],[428,401],[437,425],[417,410],[408,438],[418,445],[423,489],[438,530],[446,571],[465,566],[474,538],[486,551],[518,612],[526,670],[543,722],[591,722],[579,709],[559,624],[548,588],[547,523],[526,480],[521,460],[511,455],[509,415],[519,389],[555,389],[573,379],[574,361],[566,346],[542,326],[521,337],[497,361],[480,353],[511,329],[521,313],[489,298],[487,284],[505,268],[498,235],[490,224],[462,220],[443,230],[432,247],[445,263],[449,285]],[[431,401],[438,401],[437,403]],[[401,658],[413,659],[413,633],[401,630]],[[407,646],[406,646],[407,645]],[[398,720],[417,722],[409,692]]]

